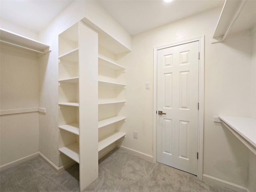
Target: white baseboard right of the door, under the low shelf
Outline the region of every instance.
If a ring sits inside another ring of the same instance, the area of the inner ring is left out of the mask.
[[[249,190],[243,186],[240,186],[240,185],[237,185],[237,184],[234,184],[234,183],[222,180],[222,179],[218,179],[218,178],[212,177],[210,175],[203,174],[203,180],[211,182],[218,186],[222,186],[224,188],[234,190],[236,192],[249,192]]]

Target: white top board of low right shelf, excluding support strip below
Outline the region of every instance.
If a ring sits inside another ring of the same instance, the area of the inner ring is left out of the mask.
[[[256,120],[222,115],[219,115],[219,118],[256,148]]]

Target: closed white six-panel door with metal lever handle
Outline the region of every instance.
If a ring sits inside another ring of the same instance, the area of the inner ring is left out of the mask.
[[[198,152],[198,55],[198,41],[157,52],[156,161],[194,175]]]

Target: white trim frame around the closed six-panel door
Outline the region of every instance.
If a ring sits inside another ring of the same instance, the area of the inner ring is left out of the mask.
[[[153,110],[153,161],[156,162],[156,128],[157,128],[157,52],[158,50],[199,41],[199,111],[198,111],[198,166],[197,177],[203,177],[203,134],[204,134],[204,36],[198,36],[162,46],[154,47],[154,110]]]

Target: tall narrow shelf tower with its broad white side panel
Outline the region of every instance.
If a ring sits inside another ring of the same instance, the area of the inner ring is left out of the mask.
[[[98,34],[80,21],[59,34],[58,80],[60,162],[80,164],[80,191],[98,178],[97,72]]]

